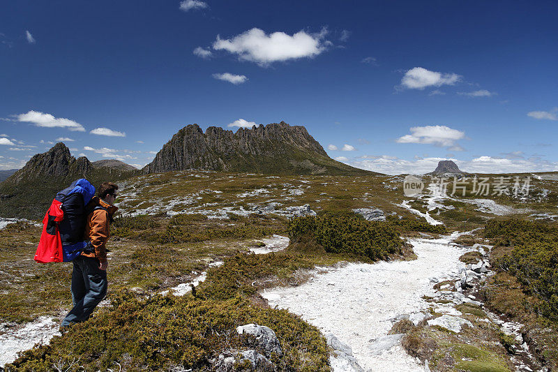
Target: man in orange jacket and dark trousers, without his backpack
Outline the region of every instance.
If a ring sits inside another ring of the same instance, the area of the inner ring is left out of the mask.
[[[107,251],[105,245],[110,237],[110,223],[118,207],[118,186],[104,182],[86,205],[88,212],[84,239],[88,244],[81,255],[73,260],[72,302],[74,307],[62,321],[61,329],[73,323],[89,319],[96,306],[107,294]]]

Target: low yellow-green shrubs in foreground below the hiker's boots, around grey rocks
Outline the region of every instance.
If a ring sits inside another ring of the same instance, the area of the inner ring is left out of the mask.
[[[329,371],[328,352],[318,329],[286,310],[252,305],[234,297],[225,301],[192,296],[113,297],[110,310],[73,326],[48,346],[34,348],[6,366],[6,371],[97,371],[120,364],[128,371],[163,371],[172,366],[209,371],[220,350],[243,347],[236,327],[270,327],[283,356],[272,355],[280,371]],[[69,368],[72,364],[73,368]]]

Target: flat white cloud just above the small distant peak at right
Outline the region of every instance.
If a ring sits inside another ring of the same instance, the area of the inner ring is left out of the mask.
[[[411,134],[399,137],[395,142],[434,144],[439,147],[451,147],[452,151],[462,151],[455,141],[465,138],[465,132],[448,126],[414,126],[409,131]]]

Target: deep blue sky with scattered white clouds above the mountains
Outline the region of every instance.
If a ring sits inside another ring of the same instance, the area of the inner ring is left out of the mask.
[[[187,124],[285,121],[378,172],[442,158],[558,170],[557,14],[556,1],[2,1],[0,169],[59,139],[141,167]]]

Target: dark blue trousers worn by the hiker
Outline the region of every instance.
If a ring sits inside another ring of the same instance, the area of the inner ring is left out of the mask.
[[[73,260],[72,302],[74,307],[62,321],[62,327],[84,322],[107,294],[107,271],[99,269],[96,258],[80,256]]]

